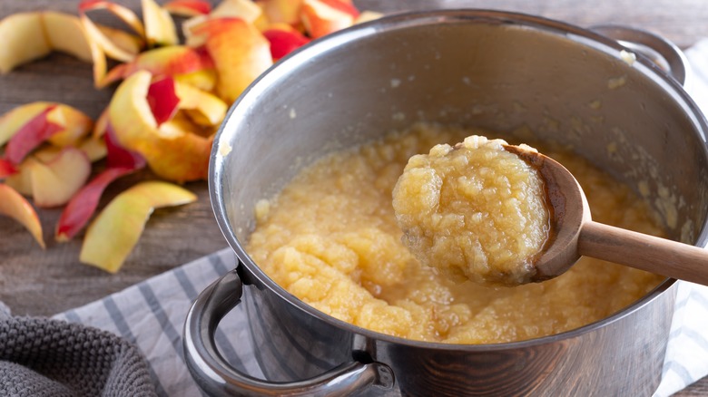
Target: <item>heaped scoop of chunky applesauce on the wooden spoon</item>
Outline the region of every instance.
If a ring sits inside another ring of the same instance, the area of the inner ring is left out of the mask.
[[[545,183],[505,145],[473,135],[408,160],[393,209],[420,263],[488,286],[518,286],[536,275],[550,231]]]

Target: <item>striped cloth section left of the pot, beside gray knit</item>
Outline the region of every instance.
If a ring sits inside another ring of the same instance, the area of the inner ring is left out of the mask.
[[[198,396],[202,392],[184,363],[182,326],[197,295],[235,263],[231,248],[222,249],[54,318],[101,328],[136,344],[150,364],[159,395]],[[262,377],[241,306],[221,322],[216,342],[230,363]]]

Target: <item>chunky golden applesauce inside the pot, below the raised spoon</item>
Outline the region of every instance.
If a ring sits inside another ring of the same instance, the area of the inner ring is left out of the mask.
[[[630,305],[664,277],[583,257],[564,275],[524,286],[456,283],[401,241],[392,190],[408,159],[469,131],[417,124],[318,160],[256,206],[247,251],[276,283],[340,320],[449,344],[521,341],[568,331]],[[555,158],[585,189],[595,220],[662,236],[648,206],[586,160]]]

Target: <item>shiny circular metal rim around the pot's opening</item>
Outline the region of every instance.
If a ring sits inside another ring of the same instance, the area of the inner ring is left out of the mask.
[[[211,206],[217,219],[217,223],[221,228],[222,234],[228,241],[229,245],[236,253],[239,259],[239,265],[245,268],[250,276],[253,276],[259,280],[264,286],[270,289],[270,292],[278,295],[285,303],[294,306],[295,308],[306,312],[308,315],[312,315],[318,318],[320,321],[335,325],[339,328],[345,329],[349,332],[355,334],[363,334],[367,337],[373,339],[379,339],[382,341],[387,341],[394,344],[408,345],[411,347],[427,348],[427,349],[437,349],[441,351],[465,351],[465,352],[490,352],[490,351],[500,351],[507,349],[517,349],[525,348],[529,346],[535,346],[540,344],[552,344],[562,340],[573,339],[582,334],[586,334],[596,329],[605,327],[609,324],[619,321],[626,315],[631,315],[635,311],[644,307],[644,305],[649,305],[654,298],[664,293],[674,283],[677,281],[675,279],[666,279],[659,286],[656,286],[651,292],[644,295],[641,299],[638,299],[634,304],[626,306],[624,309],[605,317],[604,319],[598,320],[591,324],[586,324],[582,327],[576,328],[574,330],[566,331],[560,334],[548,335],[535,339],[528,339],[518,342],[510,343],[500,343],[500,344],[443,344],[434,342],[422,342],[416,340],[405,339],[397,336],[392,336],[388,334],[380,334],[378,332],[370,331],[365,328],[361,328],[354,324],[349,324],[341,321],[330,315],[326,315],[314,307],[305,304],[295,295],[291,295],[284,288],[279,286],[277,283],[272,281],[269,276],[267,276],[260,266],[257,266],[251,257],[246,253],[246,250],[241,246],[241,242],[236,237],[234,230],[231,228],[227,216],[227,210],[225,207],[225,202],[222,199],[221,194],[221,179],[223,174],[223,157],[222,153],[231,151],[231,145],[229,141],[223,140],[225,131],[233,131],[231,125],[234,122],[238,122],[239,114],[238,112],[241,108],[248,108],[250,106],[249,102],[252,99],[256,99],[260,96],[261,91],[270,87],[270,82],[277,81],[280,75],[288,70],[289,65],[298,65],[300,63],[307,63],[308,60],[315,54],[327,52],[328,49],[339,46],[342,44],[350,43],[356,41],[360,38],[367,37],[371,34],[379,34],[392,29],[400,29],[411,27],[421,24],[441,24],[441,23],[455,23],[455,22],[477,22],[477,23],[487,23],[487,24],[506,24],[506,25],[517,25],[523,26],[530,29],[542,30],[547,33],[562,35],[575,43],[585,44],[591,46],[597,51],[603,53],[619,53],[625,50],[625,47],[618,44],[612,39],[609,39],[601,34],[597,34],[591,30],[587,30],[573,24],[565,24],[552,19],[547,19],[536,15],[526,15],[521,13],[512,13],[496,10],[486,10],[486,9],[454,9],[454,10],[436,10],[436,11],[422,11],[422,12],[409,12],[397,15],[385,16],[379,20],[375,20],[365,24],[359,24],[348,29],[339,31],[335,34],[329,34],[328,36],[315,40],[312,43],[301,47],[293,53],[290,53],[285,58],[281,59],[276,65],[270,67],[268,71],[262,73],[261,76],[252,82],[251,85],[241,94],[239,99],[231,105],[231,109],[227,113],[225,121],[221,124],[219,131],[217,132],[215,144],[211,151],[211,161],[209,170],[209,189],[211,196]],[[655,82],[661,83],[664,91],[667,93],[674,94],[680,102],[683,104],[683,109],[687,114],[693,117],[695,124],[701,127],[703,132],[703,140],[705,140],[706,132],[708,132],[708,122],[706,122],[703,117],[702,112],[699,110],[698,106],[693,102],[691,97],[683,90],[682,85],[676,82],[674,78],[664,72],[659,66],[651,63],[644,57],[638,57],[636,63],[639,63],[643,68],[645,74],[649,74]],[[224,148],[228,148],[224,150]],[[708,219],[703,223],[703,228],[701,229],[697,240],[695,242],[696,246],[704,247],[708,242]]]

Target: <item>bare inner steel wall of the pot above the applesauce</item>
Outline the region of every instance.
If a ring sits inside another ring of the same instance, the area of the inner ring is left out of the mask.
[[[705,121],[676,82],[621,50],[486,11],[399,15],[315,42],[265,73],[222,126],[210,179],[221,228],[267,282],[241,247],[256,202],[332,150],[427,121],[565,145],[646,197],[671,238],[704,245]]]

